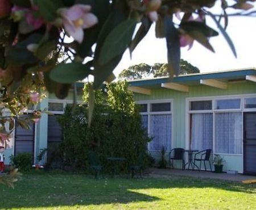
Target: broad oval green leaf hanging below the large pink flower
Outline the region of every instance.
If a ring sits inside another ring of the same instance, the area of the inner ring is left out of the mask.
[[[69,64],[59,64],[50,73],[50,78],[59,83],[74,83],[84,79],[91,73],[87,65],[72,62]]]

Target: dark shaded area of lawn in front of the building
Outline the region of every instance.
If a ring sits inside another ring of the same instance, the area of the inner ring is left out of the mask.
[[[46,208],[65,205],[127,204],[161,198],[133,192],[150,188],[216,188],[255,193],[252,185],[208,178],[102,178],[83,174],[24,174],[15,189],[0,186],[1,209]],[[255,186],[254,186],[255,187]]]

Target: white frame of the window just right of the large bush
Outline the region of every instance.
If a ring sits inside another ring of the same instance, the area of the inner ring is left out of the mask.
[[[171,111],[160,111],[160,112],[150,112],[150,104],[152,103],[171,103]],[[148,116],[148,124],[147,124],[147,133],[150,136],[150,116],[151,115],[164,115],[170,114],[171,115],[171,148],[173,147],[173,139],[174,139],[174,132],[173,132],[173,119],[174,119],[174,100],[173,99],[160,99],[160,100],[138,100],[136,104],[147,104],[147,112],[139,112],[141,115]],[[150,150],[150,142],[147,144],[147,149],[150,152],[160,152],[159,150]],[[166,152],[170,152],[170,150],[166,150]]]

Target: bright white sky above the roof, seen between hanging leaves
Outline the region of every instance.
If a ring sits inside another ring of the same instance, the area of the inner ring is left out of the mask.
[[[256,3],[254,3],[256,7]],[[214,28],[216,25],[207,18],[208,26]],[[131,65],[146,63],[149,65],[156,62],[167,62],[167,49],[165,39],[156,39],[154,32],[155,25],[135,48],[132,58],[128,50],[123,54],[122,60],[114,69],[117,76],[123,69]],[[218,72],[222,70],[256,68],[256,16],[235,16],[229,18],[226,30],[232,39],[237,52],[234,57],[224,36],[219,33],[217,37],[211,37],[209,42],[215,53],[210,52],[201,44],[194,41],[193,47],[181,48],[181,58],[187,60],[199,68],[201,73]],[[219,31],[218,31],[219,32]]]

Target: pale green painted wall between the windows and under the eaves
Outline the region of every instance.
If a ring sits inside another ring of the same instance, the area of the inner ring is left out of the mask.
[[[151,89],[151,95],[134,93],[134,99],[136,101],[173,99],[174,110],[172,112],[172,148],[185,148],[186,98],[221,95],[242,95],[255,93],[256,83],[250,81],[242,81],[237,83],[228,83],[228,89],[226,90],[217,89],[214,87],[204,85],[189,86],[189,93],[164,88]],[[152,153],[152,156],[159,157],[156,153]],[[227,156],[225,157],[225,159],[226,166],[224,167],[224,169],[232,169],[242,172],[242,156]]]

